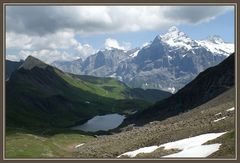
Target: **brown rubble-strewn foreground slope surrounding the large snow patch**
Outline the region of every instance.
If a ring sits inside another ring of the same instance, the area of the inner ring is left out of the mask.
[[[214,140],[215,143],[220,143],[221,147],[219,151],[209,157],[234,158],[235,110],[227,111],[233,106],[234,88],[231,88],[189,112],[164,121],[152,121],[144,126],[126,126],[122,128],[120,133],[99,136],[78,149],[72,146],[73,156],[79,158],[117,158],[125,152],[141,147],[160,145],[205,133],[227,132],[226,135]],[[161,156],[177,151],[179,150],[159,149],[149,154],[139,154],[136,158],[161,158]]]

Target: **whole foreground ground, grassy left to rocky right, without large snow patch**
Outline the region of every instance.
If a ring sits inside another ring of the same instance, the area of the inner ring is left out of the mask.
[[[116,158],[142,147],[158,146],[207,133],[223,133],[205,144],[221,144],[209,157],[235,157],[234,89],[178,116],[144,126],[125,126],[119,132],[97,137],[79,133],[57,134],[41,137],[14,132],[6,136],[6,157],[75,157]],[[230,109],[230,110],[229,110]],[[76,148],[77,147],[77,148]],[[159,148],[133,158],[161,158],[180,152],[180,149]],[[122,156],[120,158],[127,158]]]

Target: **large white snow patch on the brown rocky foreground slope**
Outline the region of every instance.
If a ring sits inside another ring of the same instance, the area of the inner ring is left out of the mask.
[[[173,157],[207,157],[212,153],[216,152],[221,144],[210,144],[210,145],[202,145],[210,140],[216,139],[226,132],[222,133],[208,133],[202,134],[199,136],[194,136],[186,139],[181,139],[174,142],[165,143],[159,146],[150,146],[150,147],[143,147],[134,151],[126,152],[119,155],[117,158],[121,156],[128,156],[128,157],[136,157],[139,153],[151,153],[158,148],[163,147],[165,150],[170,149],[179,149],[182,150],[180,152],[166,155],[163,157],[173,158]]]

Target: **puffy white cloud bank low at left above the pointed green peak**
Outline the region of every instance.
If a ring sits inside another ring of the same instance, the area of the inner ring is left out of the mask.
[[[55,60],[85,59],[95,52],[91,45],[82,45],[74,37],[72,30],[58,31],[44,37],[7,32],[7,49],[18,49],[18,53],[7,54],[7,58],[19,60],[33,55],[50,63]]]

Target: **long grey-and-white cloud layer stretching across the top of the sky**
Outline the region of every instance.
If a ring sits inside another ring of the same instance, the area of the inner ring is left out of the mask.
[[[87,35],[197,24],[233,6],[7,6],[8,32],[46,35],[71,29]]]

